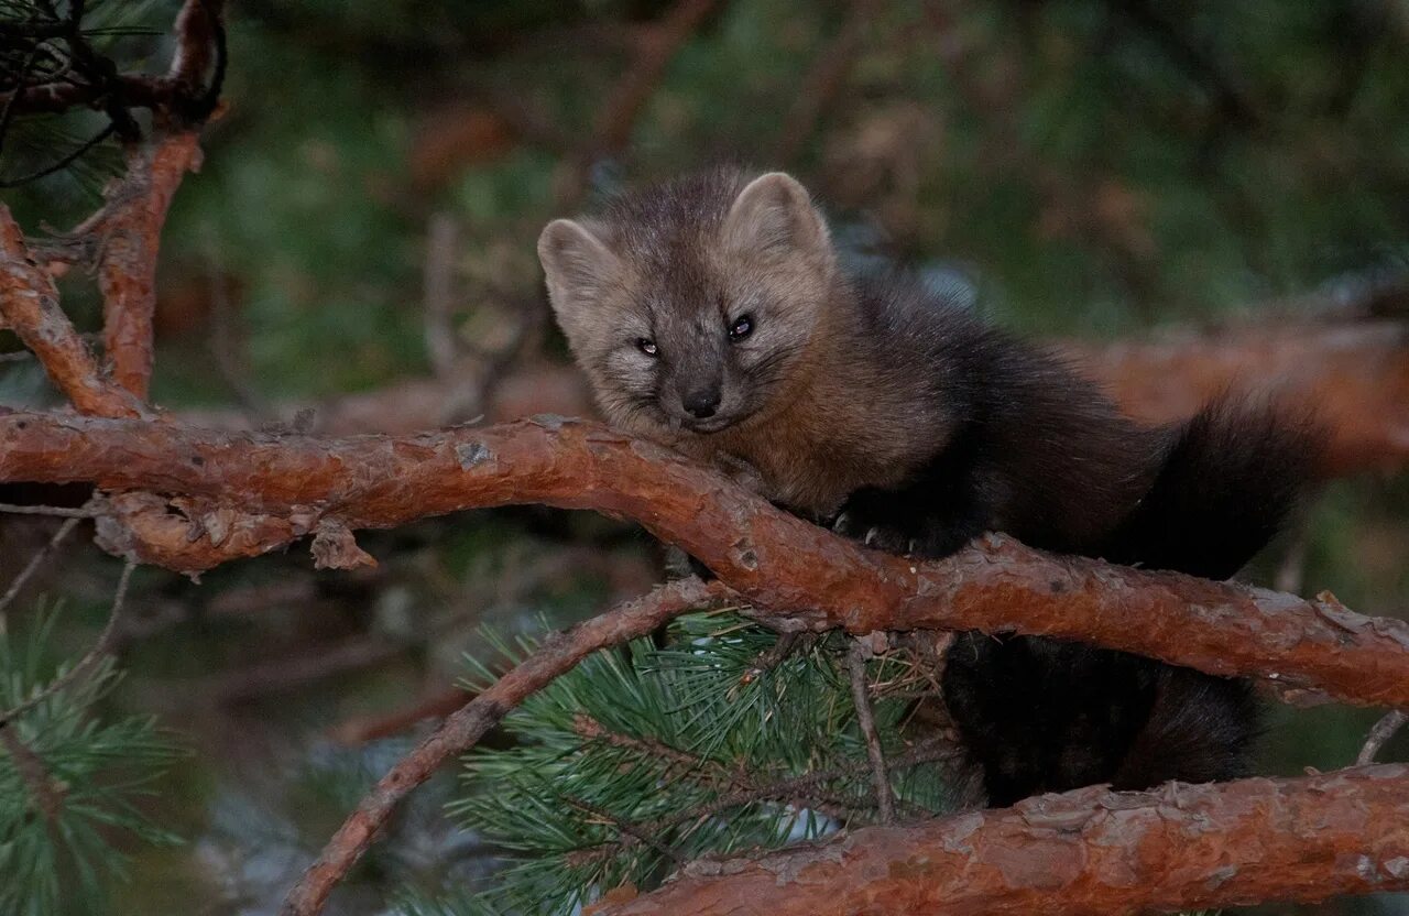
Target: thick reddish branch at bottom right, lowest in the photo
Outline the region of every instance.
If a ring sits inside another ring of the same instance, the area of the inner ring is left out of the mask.
[[[592,916],[1089,916],[1409,889],[1409,768],[1102,786],[755,858]]]

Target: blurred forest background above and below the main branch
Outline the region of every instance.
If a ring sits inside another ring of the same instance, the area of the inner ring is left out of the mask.
[[[120,13],[156,34],[110,52],[165,61],[173,4]],[[857,262],[910,265],[1045,338],[1279,321],[1409,273],[1403,0],[231,0],[228,16],[225,110],[178,193],[158,303],[154,399],[201,421],[586,410],[538,230],[721,159],[796,173]],[[20,125],[3,173],[80,128]],[[0,193],[27,227],[68,225],[116,161],[97,149]],[[68,278],[65,296],[96,328],[90,285]],[[52,395],[15,361],[0,400]],[[49,530],[0,523],[6,581]],[[454,702],[478,627],[569,621],[662,575],[634,528],[540,509],[359,540],[375,571],[317,574],[306,551],[200,583],[139,571],[111,702],[186,736],[151,806],[189,841],[134,848],[113,912],[273,912],[416,716]],[[1406,559],[1409,481],[1365,474],[1329,485],[1247,578],[1401,616]],[[41,576],[28,607],[63,607],[56,651],[92,640],[116,575],[75,548]],[[1262,769],[1344,765],[1374,717],[1278,709]],[[492,857],[440,812],[452,791],[445,774],[414,796],[340,912],[485,879]]]

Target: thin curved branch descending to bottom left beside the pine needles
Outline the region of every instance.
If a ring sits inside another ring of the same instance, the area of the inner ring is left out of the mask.
[[[592,652],[647,636],[681,613],[707,605],[724,590],[719,583],[704,585],[699,579],[675,582],[585,620],[566,633],[551,634],[533,655],[451,714],[378,781],[285,898],[280,916],[323,912],[333,888],[372,844],[396,803],[426,782],[447,758],[473,747],[524,699]]]

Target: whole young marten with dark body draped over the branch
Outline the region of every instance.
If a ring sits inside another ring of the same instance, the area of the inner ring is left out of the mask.
[[[616,427],[892,552],[985,531],[1224,579],[1278,531],[1315,424],[1223,396],[1143,426],[1054,354],[900,271],[848,275],[803,186],[719,168],[538,240],[558,323]],[[1072,641],[964,633],[944,702],[993,806],[1246,774],[1246,681]]]

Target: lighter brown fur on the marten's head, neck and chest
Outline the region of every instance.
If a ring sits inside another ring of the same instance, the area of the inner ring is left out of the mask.
[[[940,402],[921,406],[854,351],[864,333],[857,297],[826,224],[785,175],[745,183],[714,172],[599,218],[559,220],[544,230],[540,255],[607,419],[775,502],[830,514],[862,486],[898,483],[943,440]],[[730,347],[728,320],[745,311],[757,331]],[[658,341],[658,361],[637,351],[641,337]],[[710,364],[724,366],[721,414],[731,423],[699,431],[672,403]]]

